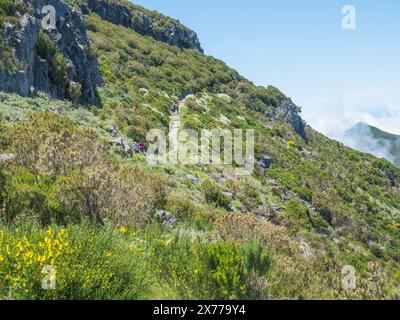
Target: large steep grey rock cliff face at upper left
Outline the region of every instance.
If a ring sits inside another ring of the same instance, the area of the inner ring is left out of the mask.
[[[89,104],[97,104],[96,87],[103,81],[97,60],[90,52],[90,39],[82,16],[61,0],[26,0],[29,13],[17,13],[19,26],[7,24],[4,30],[3,50],[13,48],[17,65],[0,71],[0,90],[22,96],[43,91],[55,98],[70,98],[72,85],[79,88],[80,97]],[[41,31],[42,8],[56,9],[56,28]],[[66,79],[62,83],[50,76],[50,61],[38,54],[40,32],[62,53],[67,65]],[[1,50],[1,49],[0,49]]]

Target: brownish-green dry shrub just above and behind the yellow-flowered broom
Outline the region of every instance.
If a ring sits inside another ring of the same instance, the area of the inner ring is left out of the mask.
[[[56,196],[66,218],[99,223],[149,224],[164,203],[166,184],[136,166],[96,165],[61,177]]]

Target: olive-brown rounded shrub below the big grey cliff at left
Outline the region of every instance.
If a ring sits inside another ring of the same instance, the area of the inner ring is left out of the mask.
[[[97,135],[54,113],[33,113],[12,128],[18,164],[37,174],[67,174],[100,161]]]

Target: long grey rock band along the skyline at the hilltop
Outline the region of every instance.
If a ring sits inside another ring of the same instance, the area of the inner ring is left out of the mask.
[[[153,37],[157,41],[203,52],[194,31],[161,14],[157,14],[157,19],[154,19],[150,16],[150,12],[141,10],[137,6],[104,0],[88,0],[81,4],[80,8],[84,14],[94,12],[103,20],[131,28],[137,33]]]

